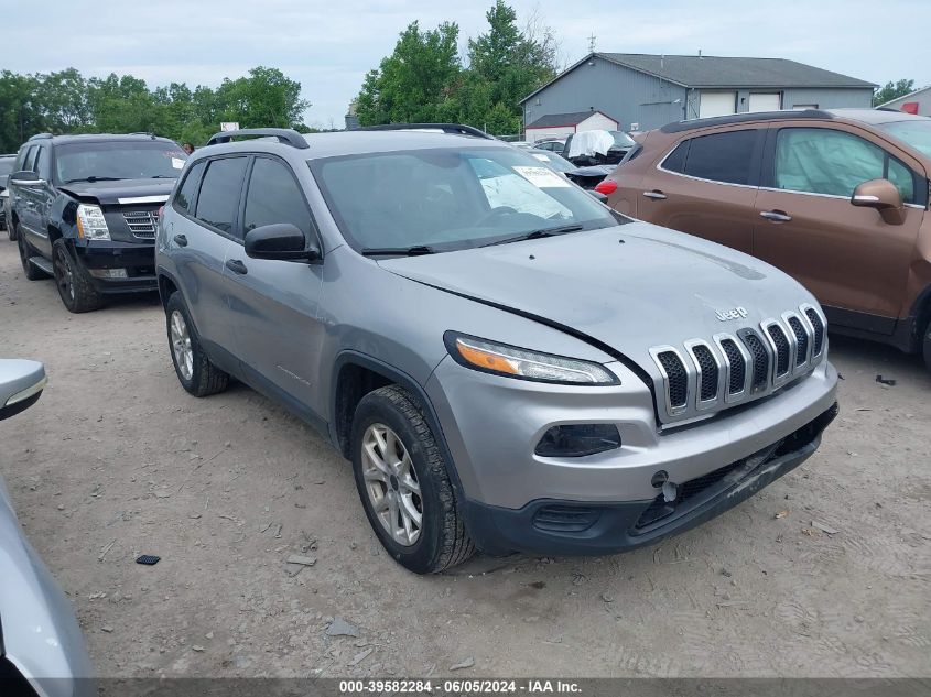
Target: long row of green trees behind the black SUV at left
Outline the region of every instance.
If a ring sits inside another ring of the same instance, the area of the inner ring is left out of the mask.
[[[201,144],[221,121],[250,127],[302,126],[310,106],[301,84],[277,68],[256,67],[216,89],[184,83],[149,89],[131,75],[85,79],[74,68],[58,73],[0,73],[0,153],[15,152],[35,133],[144,131]]]

